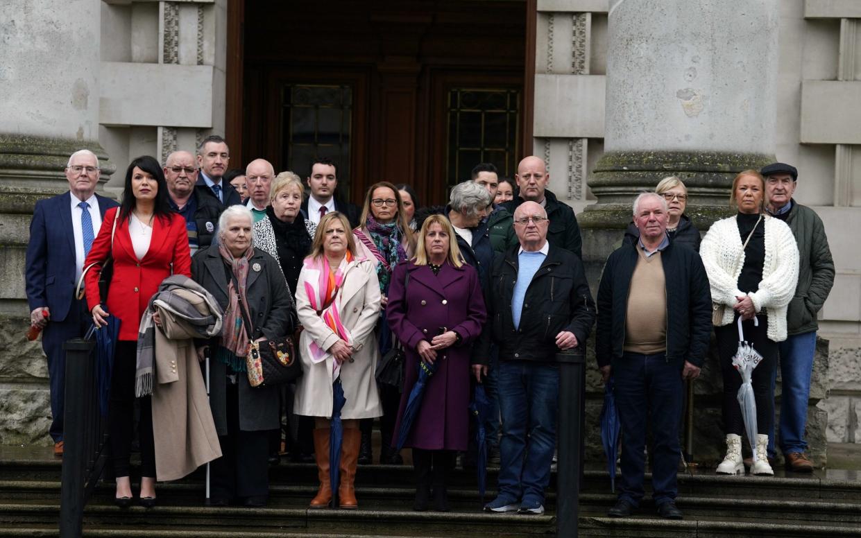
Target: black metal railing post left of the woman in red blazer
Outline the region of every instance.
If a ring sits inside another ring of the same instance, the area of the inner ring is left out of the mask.
[[[75,538],[81,535],[84,522],[86,454],[89,387],[93,379],[92,350],[95,343],[74,338],[63,344],[65,349],[65,413],[63,415],[63,472],[60,485],[59,535]]]

